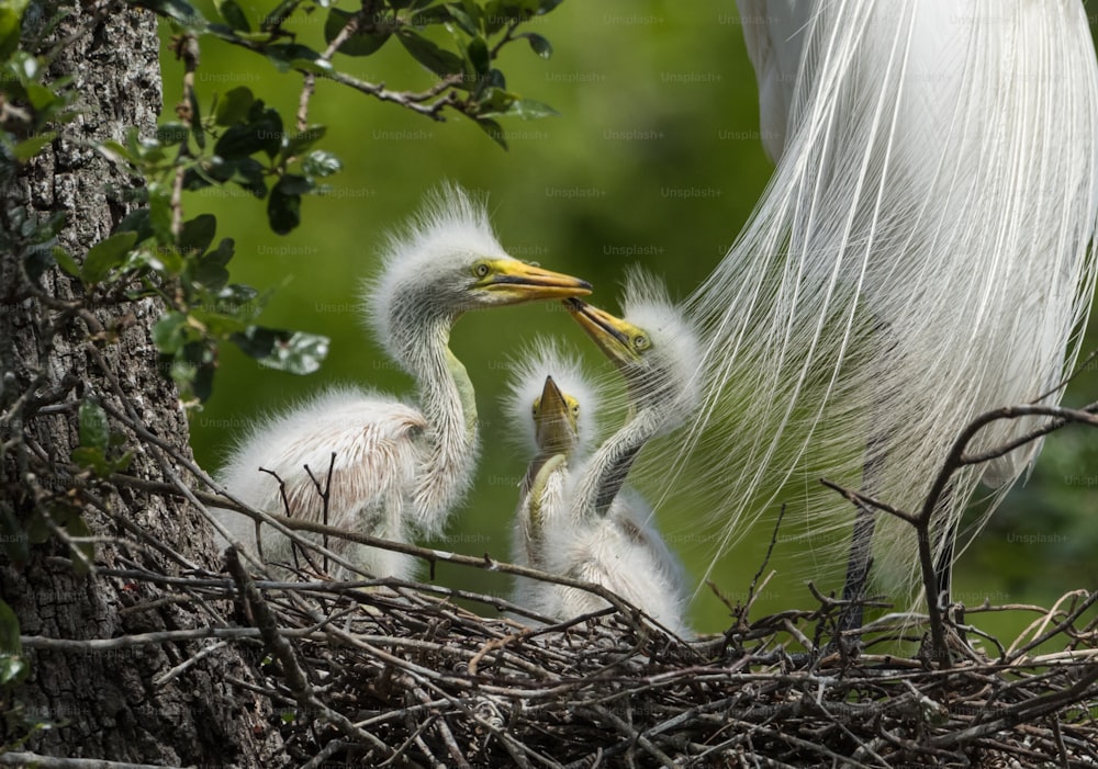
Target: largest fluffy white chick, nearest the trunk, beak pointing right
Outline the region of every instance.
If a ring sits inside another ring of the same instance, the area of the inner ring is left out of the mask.
[[[371,391],[334,389],[254,428],[232,451],[221,474],[242,501],[321,521],[324,505],[309,472],[327,483],[327,523],[396,541],[410,528],[438,532],[469,487],[478,456],[472,382],[450,352],[450,328],[482,307],[558,299],[590,293],[579,279],[509,257],[488,213],[458,186],[434,193],[404,231],[389,237],[383,269],[366,292],[369,319],[389,354],[416,381],[404,403]],[[309,471],[305,470],[307,466]],[[239,513],[222,521],[248,547],[256,527]],[[338,540],[333,552],[374,576],[406,577],[413,562],[390,551]],[[264,557],[285,562],[290,541],[270,528]],[[345,576],[344,569],[334,576]]]

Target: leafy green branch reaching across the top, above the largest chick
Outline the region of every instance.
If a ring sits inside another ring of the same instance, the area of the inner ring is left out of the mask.
[[[220,19],[206,19],[189,0],[134,0],[168,19],[181,32],[209,35],[266,57],[280,71],[296,71],[304,78],[299,129],[305,125],[309,101],[316,78],[325,78],[381,101],[444,121],[446,110],[471,118],[506,148],[498,117],[524,120],[553,115],[547,104],[526,99],[507,87],[494,66],[508,44],[525,39],[542,58],[552,54],[544,36],[518,33],[531,19],[552,11],[562,0],[362,0],[357,11],[330,7],[329,0],[284,0],[261,20],[249,19],[235,0],[220,0]],[[324,43],[320,50],[298,41],[293,22],[315,12],[326,12]],[[449,45],[436,42],[446,33]],[[390,90],[341,71],[347,58],[376,54],[395,38],[404,50],[438,82],[425,91]]]

